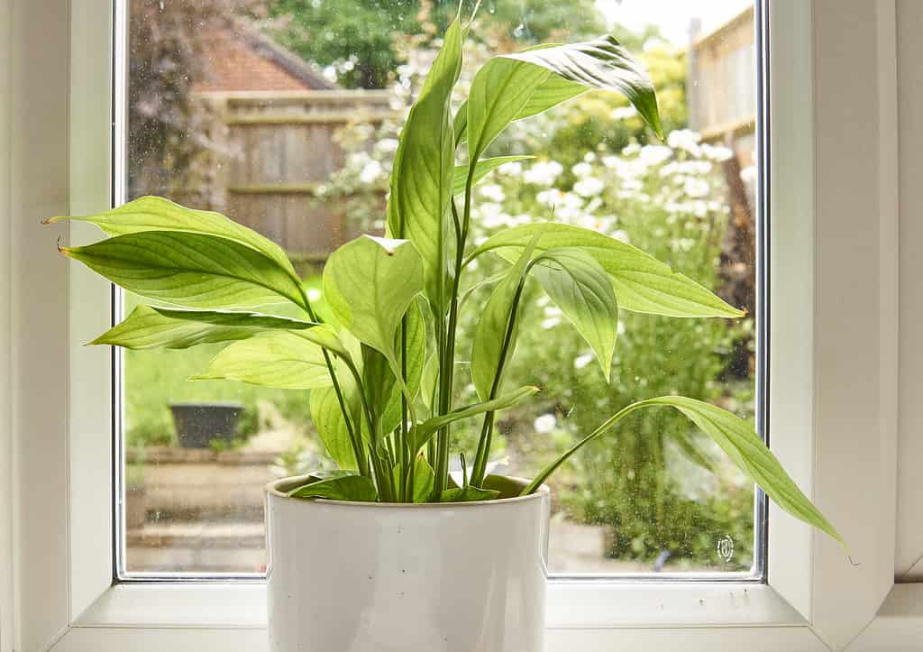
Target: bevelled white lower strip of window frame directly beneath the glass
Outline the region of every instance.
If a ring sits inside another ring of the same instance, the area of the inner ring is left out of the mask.
[[[772,587],[726,582],[553,582],[546,622],[553,630],[806,624]],[[266,587],[120,584],[103,593],[75,626],[264,628]]]

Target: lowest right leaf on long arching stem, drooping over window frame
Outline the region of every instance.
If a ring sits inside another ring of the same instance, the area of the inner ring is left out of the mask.
[[[554,473],[557,467],[563,464],[570,455],[580,450],[583,445],[603,435],[622,418],[642,407],[660,405],[675,407],[688,417],[690,421],[711,437],[731,461],[753,482],[759,485],[766,492],[766,495],[773,499],[785,512],[826,532],[845,546],[843,538],[836,532],[833,525],[808,500],[801,492],[801,489],[798,489],[792,478],[785,473],[785,469],[779,464],[775,455],[766,448],[759,435],[754,432],[747,421],[732,415],[720,407],[685,396],[661,396],[630,404],[614,417],[607,419],[603,425],[595,429],[590,435],[574,444],[569,451],[561,455],[557,460],[547,465],[529,486],[522,490],[522,495],[528,495],[538,489],[545,481],[545,478]]]

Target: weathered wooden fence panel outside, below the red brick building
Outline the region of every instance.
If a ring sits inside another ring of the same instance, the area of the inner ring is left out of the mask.
[[[390,98],[387,91],[198,93],[215,118],[210,187],[196,194],[296,258],[323,259],[356,235],[340,202],[315,199],[344,161],[334,135],[351,122],[392,117]]]

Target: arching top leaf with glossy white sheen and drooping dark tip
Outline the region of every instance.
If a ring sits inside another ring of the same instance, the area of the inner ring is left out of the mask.
[[[538,47],[490,59],[474,76],[467,105],[472,165],[513,120],[535,115],[586,89],[617,91],[663,138],[657,99],[643,66],[612,36]],[[456,118],[456,126],[464,123]]]

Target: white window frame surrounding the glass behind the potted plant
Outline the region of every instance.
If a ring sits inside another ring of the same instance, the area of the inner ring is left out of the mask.
[[[260,583],[112,581],[111,357],[79,345],[108,327],[110,291],[54,251],[92,227],[39,225],[110,205],[112,12],[111,0],[0,0],[0,652],[258,652]],[[769,12],[771,445],[853,561],[772,506],[768,584],[555,583],[548,652],[923,637],[923,586],[893,584],[895,0]]]

